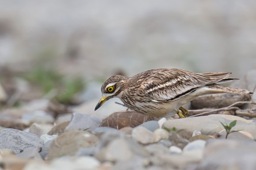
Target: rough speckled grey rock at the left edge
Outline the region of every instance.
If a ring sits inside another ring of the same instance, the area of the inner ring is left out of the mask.
[[[9,148],[15,153],[20,153],[26,148],[41,150],[44,141],[37,135],[15,129],[4,129],[0,131],[0,148]]]

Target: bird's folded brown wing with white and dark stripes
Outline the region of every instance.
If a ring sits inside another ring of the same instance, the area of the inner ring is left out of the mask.
[[[229,75],[227,72],[197,74],[180,69],[166,69],[154,72],[152,80],[147,82],[143,90],[151,101],[173,101]]]

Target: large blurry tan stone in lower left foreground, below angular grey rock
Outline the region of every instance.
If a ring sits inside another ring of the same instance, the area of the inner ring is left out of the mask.
[[[60,156],[73,156],[80,148],[95,147],[98,137],[88,131],[72,130],[53,140],[49,154],[45,159],[51,160]]]

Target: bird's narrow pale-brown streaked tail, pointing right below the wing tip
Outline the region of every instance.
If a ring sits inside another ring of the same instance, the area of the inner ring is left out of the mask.
[[[253,94],[253,92],[249,90],[244,90],[244,89],[239,89],[234,87],[226,87],[216,83],[208,84],[207,86],[209,88],[216,90],[217,93]]]

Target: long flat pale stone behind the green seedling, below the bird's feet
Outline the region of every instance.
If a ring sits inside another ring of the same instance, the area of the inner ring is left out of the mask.
[[[202,134],[211,135],[214,133],[219,133],[224,129],[220,122],[229,124],[233,120],[237,120],[237,124],[235,127],[233,127],[233,130],[242,129],[243,131],[252,134],[254,139],[256,139],[256,123],[252,123],[250,120],[232,115],[209,115],[185,119],[172,119],[166,121],[162,127],[167,127],[169,129],[175,127],[177,130],[185,129],[191,133],[193,133],[194,130],[199,130],[202,132]]]

